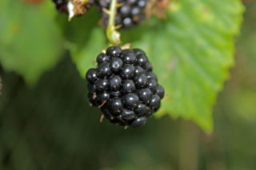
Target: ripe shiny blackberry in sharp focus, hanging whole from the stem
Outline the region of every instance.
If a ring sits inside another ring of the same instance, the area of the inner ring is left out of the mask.
[[[98,67],[86,73],[91,105],[114,124],[145,125],[164,97],[146,54],[141,49],[110,46],[98,55],[97,62]]]

